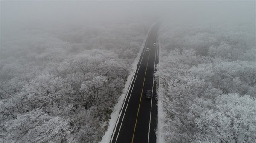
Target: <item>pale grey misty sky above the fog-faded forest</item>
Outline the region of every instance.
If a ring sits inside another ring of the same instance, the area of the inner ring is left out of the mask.
[[[48,1],[23,0],[0,2],[1,29],[31,23],[60,24],[125,17],[169,16],[174,21],[191,20],[255,23],[256,2],[252,1]]]

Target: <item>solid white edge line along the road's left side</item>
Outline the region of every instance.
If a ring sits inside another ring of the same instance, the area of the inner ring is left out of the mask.
[[[143,59],[143,56],[144,56],[144,53],[145,53],[145,48],[146,48],[146,45],[147,45],[147,42],[148,42],[148,39],[149,39],[149,35],[150,35],[150,34],[151,34],[151,30],[149,31],[148,37],[147,37],[147,39],[146,39],[146,42],[145,42],[145,45],[144,45],[144,48],[143,48],[143,55],[142,55],[142,57],[141,57],[140,64],[141,64],[141,62],[142,62],[142,59]],[[131,88],[131,93],[132,93],[132,90],[133,90],[133,87],[134,87],[134,84],[135,84],[137,75],[138,75],[138,73],[139,73],[139,70],[140,70],[140,65],[139,65],[139,67],[138,67],[138,70],[137,70],[135,79],[132,79],[132,81],[131,81],[131,82],[133,82],[133,80],[134,80],[133,86],[132,86],[132,88]],[[128,90],[128,93],[129,93],[129,90]],[[125,107],[125,112],[126,112],[126,109],[127,109],[127,107],[128,107],[129,101],[130,101],[131,93],[130,93],[130,96],[129,96],[129,98],[128,98],[128,101],[127,101],[127,104],[126,104],[126,107]],[[126,98],[125,98],[125,101],[126,101]],[[125,101],[124,101],[124,104],[125,104]],[[124,105],[124,104],[123,104],[123,105]],[[123,107],[122,107],[122,110],[123,110]],[[120,112],[121,114],[122,114],[122,110],[121,110],[121,112]],[[119,130],[118,130],[118,134],[117,134],[117,136],[116,136],[116,141],[115,141],[115,143],[117,142],[117,139],[118,139],[118,136],[119,136],[119,132],[120,132],[121,127],[122,127],[122,122],[123,122],[123,120],[124,120],[124,118],[125,118],[125,112],[124,112],[124,115],[123,115],[123,117],[122,117],[122,121],[121,121]],[[118,123],[118,122],[119,122],[119,119],[118,119],[117,123]],[[115,129],[115,131],[116,131],[116,129]],[[114,131],[114,132],[115,132],[115,131]],[[112,143],[112,140],[113,140],[113,138],[111,139],[111,143]]]

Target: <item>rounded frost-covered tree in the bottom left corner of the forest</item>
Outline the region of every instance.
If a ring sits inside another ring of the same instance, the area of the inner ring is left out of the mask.
[[[68,143],[69,121],[61,117],[49,116],[42,109],[34,109],[17,115],[5,126],[4,143]]]

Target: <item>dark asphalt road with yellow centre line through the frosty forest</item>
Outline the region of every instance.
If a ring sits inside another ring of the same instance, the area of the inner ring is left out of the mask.
[[[157,28],[157,24],[153,25],[148,34],[111,143],[157,143],[157,94],[153,76],[158,63],[158,46],[153,46],[157,43]],[[149,52],[146,48],[150,48]],[[146,90],[153,90],[152,99],[145,98]]]

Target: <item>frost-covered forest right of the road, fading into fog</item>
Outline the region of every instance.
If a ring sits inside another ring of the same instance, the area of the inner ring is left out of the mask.
[[[162,22],[166,143],[255,143],[255,23]]]

